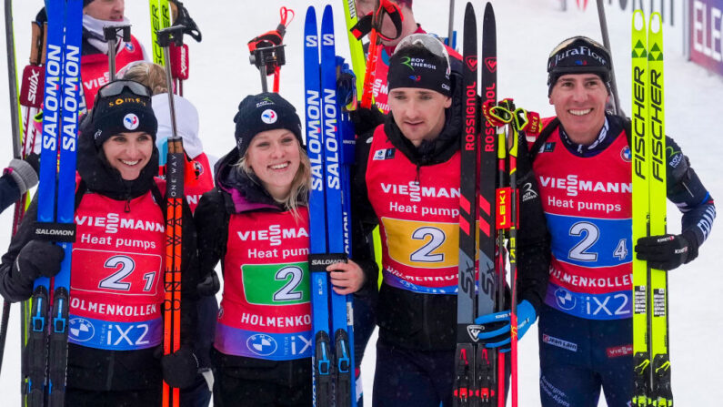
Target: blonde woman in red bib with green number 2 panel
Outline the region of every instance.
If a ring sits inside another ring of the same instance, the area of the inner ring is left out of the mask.
[[[224,277],[214,405],[310,406],[311,164],[301,122],[275,93],[246,97],[234,121],[236,148],[216,164],[216,188],[195,215],[204,274],[212,276],[221,260]],[[367,281],[352,260],[328,270],[339,294]]]

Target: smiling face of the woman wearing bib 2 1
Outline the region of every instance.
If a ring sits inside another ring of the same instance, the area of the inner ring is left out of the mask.
[[[120,133],[103,143],[103,153],[110,166],[117,169],[121,178],[132,181],[141,174],[153,155],[154,142],[144,131]]]

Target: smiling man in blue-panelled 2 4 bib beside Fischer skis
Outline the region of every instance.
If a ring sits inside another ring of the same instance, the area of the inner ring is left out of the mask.
[[[585,36],[560,43],[547,61],[556,117],[530,142],[552,261],[539,314],[542,405],[610,407],[633,396],[633,250],[658,270],[698,256],[715,218],[713,199],[688,157],[667,137],[668,199],[682,232],[631,241],[630,121],[606,112],[608,50]]]

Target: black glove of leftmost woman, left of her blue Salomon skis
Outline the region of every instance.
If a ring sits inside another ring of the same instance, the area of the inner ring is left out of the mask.
[[[41,276],[53,277],[60,271],[60,262],[64,258],[65,252],[60,246],[49,241],[30,240],[17,253],[13,263],[13,278],[27,284]]]

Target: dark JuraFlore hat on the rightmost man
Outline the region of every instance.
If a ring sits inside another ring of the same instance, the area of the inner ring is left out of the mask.
[[[566,74],[596,74],[608,86],[610,82],[610,53],[587,36],[567,38],[555,47],[547,59],[547,96],[557,79]]]

